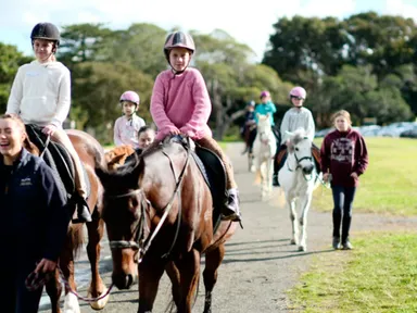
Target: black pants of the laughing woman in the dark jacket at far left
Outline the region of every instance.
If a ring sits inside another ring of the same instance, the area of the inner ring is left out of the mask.
[[[0,268],[0,305],[4,313],[37,313],[42,289],[29,291],[26,277],[35,270],[35,263],[21,268]]]

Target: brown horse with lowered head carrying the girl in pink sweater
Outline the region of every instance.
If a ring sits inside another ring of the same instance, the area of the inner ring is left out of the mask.
[[[214,227],[211,190],[190,148],[167,138],[143,152],[137,164],[96,172],[104,187],[102,217],[115,286],[126,289],[139,278],[138,312],[152,312],[166,270],[178,312],[191,312],[205,253],[204,312],[211,312],[224,245],[236,223],[220,222]]]

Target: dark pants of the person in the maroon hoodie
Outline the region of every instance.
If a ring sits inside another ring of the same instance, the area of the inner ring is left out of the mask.
[[[342,223],[342,243],[349,239],[352,222],[352,203],[355,198],[356,187],[332,186],[333,193],[333,237],[340,237]]]

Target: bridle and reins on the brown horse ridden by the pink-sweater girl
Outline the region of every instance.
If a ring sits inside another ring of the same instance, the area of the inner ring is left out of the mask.
[[[160,222],[157,223],[154,231],[150,236],[149,235],[148,235],[148,237],[146,236],[146,230],[147,230],[146,227],[148,227],[148,230],[149,230],[149,226],[148,226],[146,216],[147,216],[147,213],[149,211],[148,209],[151,205],[151,202],[147,199],[144,191],[141,188],[139,188],[139,189],[135,189],[135,190],[127,192],[127,193],[110,196],[112,198],[125,198],[125,197],[138,196],[138,195],[141,196],[141,201],[140,201],[140,211],[141,211],[140,215],[141,216],[140,216],[137,225],[135,226],[135,230],[134,230],[135,236],[132,236],[134,240],[111,240],[109,242],[111,250],[132,249],[135,251],[138,251],[137,262],[140,263],[142,261],[144,254],[147,253],[147,251],[151,247],[152,240],[155,238],[157,233],[161,230],[161,227],[164,224],[166,217],[168,216],[169,211],[174,205],[174,200],[177,196],[178,197],[178,217],[177,217],[176,233],[175,233],[174,240],[173,240],[173,243],[170,245],[168,252],[165,253],[164,255],[162,255],[162,258],[167,258],[170,254],[170,252],[173,251],[174,246],[177,241],[177,237],[179,234],[179,226],[181,224],[181,188],[180,187],[181,187],[182,181],[184,181],[184,176],[185,176],[186,170],[187,170],[189,162],[190,162],[189,146],[184,146],[184,148],[187,151],[187,159],[186,159],[186,163],[184,164],[184,167],[182,167],[178,178],[175,177],[176,175],[175,175],[175,167],[174,167],[173,160],[170,159],[170,156],[165,151],[162,151],[163,154],[166,158],[168,158],[168,160],[169,160],[170,168],[174,173],[174,177],[176,178],[176,186],[175,186],[173,195],[170,196],[168,203],[162,209],[162,211],[164,211],[164,214],[162,215]]]

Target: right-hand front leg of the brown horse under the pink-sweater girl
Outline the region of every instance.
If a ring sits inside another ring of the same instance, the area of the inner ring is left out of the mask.
[[[178,306],[178,313],[191,313],[193,296],[200,276],[200,252],[192,249],[190,252],[185,253],[181,260],[176,262],[181,275],[181,301]]]

